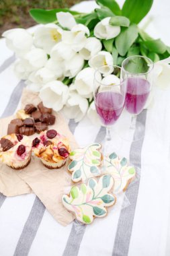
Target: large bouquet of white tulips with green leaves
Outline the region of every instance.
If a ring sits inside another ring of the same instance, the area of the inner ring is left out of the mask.
[[[3,33],[9,49],[18,57],[14,71],[30,90],[39,92],[44,106],[63,110],[80,121],[85,114],[95,123],[93,77],[101,65],[122,65],[131,55],[143,55],[157,65],[157,83],[170,81],[170,47],[154,40],[137,24],[151,9],[153,0],[126,0],[122,9],[115,0],[96,0],[91,13],[70,9],[32,9],[41,25],[34,34],[16,28]],[[161,61],[166,59],[166,61]],[[143,65],[136,65],[142,73]],[[109,70],[105,69],[108,73]]]

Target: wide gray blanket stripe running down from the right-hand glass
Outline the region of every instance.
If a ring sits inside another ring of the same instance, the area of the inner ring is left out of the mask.
[[[140,123],[142,123],[143,129],[138,129]],[[142,113],[140,113],[140,115],[137,117],[136,129],[134,131],[134,139],[135,137],[139,137],[138,135],[141,135],[142,139],[133,141],[130,148],[130,163],[138,168],[141,168],[141,152],[142,144],[144,141],[145,123],[146,110],[143,110]],[[129,189],[127,189],[125,193],[126,197],[130,201],[130,206],[122,209],[120,212],[112,256],[128,255],[130,237],[132,234],[132,227],[134,222],[134,214],[136,210],[136,202],[138,199],[139,185],[140,176],[138,177],[138,181],[132,183],[132,185],[130,185]]]

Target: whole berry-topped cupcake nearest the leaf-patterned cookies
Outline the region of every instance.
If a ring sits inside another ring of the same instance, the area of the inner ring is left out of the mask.
[[[60,168],[67,162],[71,152],[69,139],[56,130],[42,131],[32,141],[32,152],[49,169]]]

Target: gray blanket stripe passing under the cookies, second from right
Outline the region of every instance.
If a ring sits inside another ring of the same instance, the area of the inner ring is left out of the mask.
[[[101,127],[97,136],[95,137],[95,142],[101,142],[105,138],[105,127]],[[81,241],[85,234],[86,225],[78,222],[77,220],[73,221],[73,226],[71,228],[71,233],[69,235],[65,251],[62,256],[77,256],[79,253],[79,248]]]

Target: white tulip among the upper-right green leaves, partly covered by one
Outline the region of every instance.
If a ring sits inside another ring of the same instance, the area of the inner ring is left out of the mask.
[[[110,25],[111,17],[104,18],[94,28],[94,35],[99,39],[111,39],[120,34],[120,26]]]

